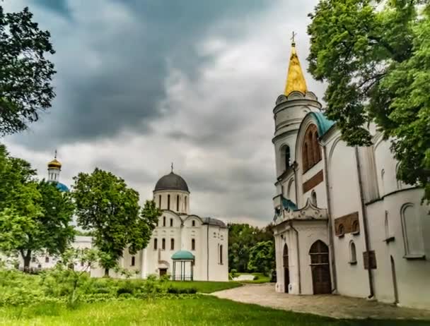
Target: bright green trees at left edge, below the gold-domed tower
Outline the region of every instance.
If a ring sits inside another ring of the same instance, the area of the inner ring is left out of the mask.
[[[30,163],[0,146],[0,250],[19,253],[25,269],[34,253],[63,253],[74,239],[70,196],[34,176]]]

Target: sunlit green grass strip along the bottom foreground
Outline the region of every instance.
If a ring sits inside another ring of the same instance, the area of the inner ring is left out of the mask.
[[[74,310],[59,304],[0,308],[0,325],[428,326],[430,322],[334,320],[200,295],[154,301],[128,299],[83,303]]]

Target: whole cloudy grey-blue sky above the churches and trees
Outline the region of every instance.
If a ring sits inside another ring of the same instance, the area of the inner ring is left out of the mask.
[[[192,213],[265,225],[273,217],[274,101],[294,30],[307,67],[317,0],[5,0],[50,30],[57,97],[4,143],[40,176],[58,150],[62,182],[95,167],[152,197],[175,172]],[[323,86],[306,73],[308,88]]]

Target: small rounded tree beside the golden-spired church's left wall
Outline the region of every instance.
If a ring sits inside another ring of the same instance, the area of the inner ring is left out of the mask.
[[[248,270],[254,272],[263,272],[269,275],[274,269],[274,242],[260,241],[250,249],[250,260],[248,261]]]

